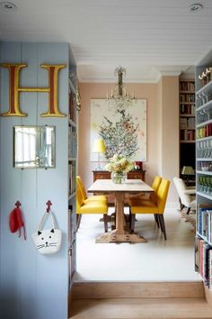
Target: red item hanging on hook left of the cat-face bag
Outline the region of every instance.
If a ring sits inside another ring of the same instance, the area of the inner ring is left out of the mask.
[[[24,240],[26,240],[25,225],[22,221],[22,211],[19,208],[22,204],[19,201],[17,201],[15,205],[16,205],[16,208],[13,209],[9,217],[10,231],[11,232],[19,231],[19,237],[21,237],[21,234],[22,234],[21,228],[23,227],[23,236],[24,236]]]

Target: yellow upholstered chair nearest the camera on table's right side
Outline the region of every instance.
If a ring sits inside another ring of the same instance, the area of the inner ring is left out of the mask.
[[[161,226],[164,239],[166,240],[165,223],[163,218],[164,208],[166,204],[166,199],[168,196],[168,191],[170,187],[170,181],[168,179],[162,178],[160,186],[156,192],[155,200],[142,200],[142,199],[132,199],[129,202],[129,212],[130,212],[130,230],[134,231],[135,227],[135,216],[136,214],[154,214],[155,220],[158,225]]]

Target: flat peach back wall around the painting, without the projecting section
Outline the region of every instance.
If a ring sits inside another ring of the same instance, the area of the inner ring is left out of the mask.
[[[92,170],[96,163],[90,162],[90,100],[91,98],[106,98],[107,92],[111,91],[114,84],[81,83],[80,94],[82,111],[79,114],[79,164],[78,172],[88,187],[93,181]],[[146,182],[151,183],[158,172],[158,91],[157,84],[128,84],[128,91],[135,91],[138,98],[145,98],[147,102],[147,161],[144,163],[146,169]],[[91,146],[92,147],[92,146]]]

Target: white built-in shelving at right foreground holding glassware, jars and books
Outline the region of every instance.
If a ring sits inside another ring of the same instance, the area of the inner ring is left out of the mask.
[[[197,232],[195,269],[212,288],[212,52],[196,68]]]

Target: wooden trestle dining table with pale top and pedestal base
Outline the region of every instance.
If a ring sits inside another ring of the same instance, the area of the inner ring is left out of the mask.
[[[146,242],[146,239],[137,233],[130,233],[125,229],[124,203],[125,198],[144,193],[151,193],[154,189],[140,179],[127,179],[123,184],[115,184],[111,179],[97,179],[88,193],[113,194],[115,197],[116,228],[112,232],[105,232],[96,242]]]

